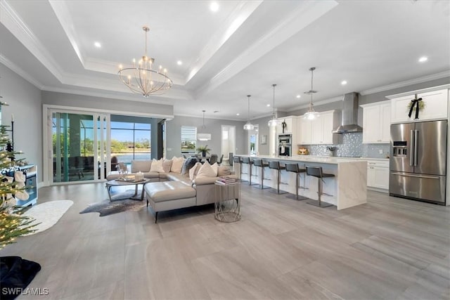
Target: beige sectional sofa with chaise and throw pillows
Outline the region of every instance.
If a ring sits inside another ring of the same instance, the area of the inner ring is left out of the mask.
[[[234,176],[229,167],[218,166],[217,174],[198,174],[186,167],[190,162],[183,160],[180,170],[180,159],[162,160],[161,168],[152,168],[152,164],[161,164],[161,161],[134,160],[131,162],[131,174],[143,173],[144,178],[150,178],[150,183],[144,186],[146,191],[147,206],[150,204],[155,211],[155,223],[158,222],[158,212],[184,207],[200,206],[217,202],[218,193],[214,182],[220,176]],[[172,164],[174,168],[172,168]],[[176,164],[176,166],[175,166]],[[209,164],[208,164],[209,166]],[[155,167],[155,166],[154,166]],[[196,171],[200,171],[201,164],[195,164]],[[207,166],[204,167],[205,169]],[[158,170],[158,171],[155,171]],[[191,176],[189,176],[191,171]],[[106,177],[109,180],[119,178],[117,171],[112,171]],[[238,200],[238,188],[231,192],[234,199]]]

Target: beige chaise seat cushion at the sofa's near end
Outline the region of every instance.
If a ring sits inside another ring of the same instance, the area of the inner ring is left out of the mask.
[[[153,202],[195,197],[196,190],[183,181],[163,181],[147,183],[145,190]]]

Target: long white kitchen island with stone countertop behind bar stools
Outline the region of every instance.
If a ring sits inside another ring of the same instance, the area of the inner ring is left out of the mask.
[[[346,209],[354,207],[359,204],[367,203],[367,162],[359,159],[345,159],[342,157],[309,157],[293,156],[293,157],[273,157],[270,155],[235,155],[238,157],[250,157],[252,159],[263,159],[264,161],[276,160],[281,164],[299,164],[300,167],[322,167],[323,173],[334,174],[334,177],[324,178],[323,202],[334,204],[339,209]],[[235,171],[239,174],[239,168],[243,168],[242,180],[248,181],[248,164],[236,164]],[[252,183],[260,183],[261,171],[259,167],[252,166]],[[256,177],[257,175],[258,177]],[[266,167],[264,170],[264,185],[269,185],[271,188],[276,188],[276,170]],[[303,185],[302,173],[300,178],[300,186]],[[281,171],[281,185],[280,190],[285,190],[288,193],[295,194],[295,174],[288,171]],[[306,176],[305,187],[307,189],[299,188],[298,193],[304,197],[317,200],[317,180],[318,178]]]

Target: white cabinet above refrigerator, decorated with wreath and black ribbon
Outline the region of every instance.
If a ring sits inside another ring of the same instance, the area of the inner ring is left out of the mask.
[[[414,94],[409,96],[400,96],[391,98],[391,122],[413,122],[426,121],[431,119],[446,119],[449,105],[449,91],[442,89],[437,91],[428,91],[425,93],[417,93],[417,98],[422,98],[419,109],[419,117],[416,117],[416,110],[413,110],[411,117],[409,117],[409,107],[411,100],[414,99]],[[422,107],[423,105],[423,107]]]

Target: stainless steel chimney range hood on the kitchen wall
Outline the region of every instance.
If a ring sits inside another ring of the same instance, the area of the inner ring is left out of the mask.
[[[358,125],[358,93],[346,93],[342,98],[342,123],[333,133],[361,132]]]

